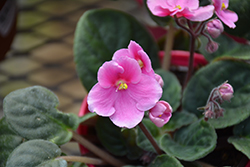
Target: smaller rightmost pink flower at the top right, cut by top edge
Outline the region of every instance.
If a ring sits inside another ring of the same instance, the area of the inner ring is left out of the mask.
[[[238,20],[238,15],[230,10],[227,10],[229,0],[213,0],[216,15],[230,28],[235,28],[234,24]]]

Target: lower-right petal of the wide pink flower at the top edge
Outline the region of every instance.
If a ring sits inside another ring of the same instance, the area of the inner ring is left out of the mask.
[[[213,16],[214,6],[208,5],[204,7],[199,7],[197,10],[193,11],[192,15],[185,15],[187,19],[191,21],[204,21]]]

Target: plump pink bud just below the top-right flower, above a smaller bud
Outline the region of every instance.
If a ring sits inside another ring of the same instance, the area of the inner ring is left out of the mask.
[[[224,27],[219,19],[213,19],[207,23],[207,32],[212,38],[217,38],[223,31]]]

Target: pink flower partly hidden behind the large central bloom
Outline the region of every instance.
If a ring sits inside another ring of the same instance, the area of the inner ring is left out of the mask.
[[[117,60],[120,57],[128,56],[135,59],[141,67],[142,73],[154,77],[154,70],[151,66],[151,60],[142,47],[134,41],[130,41],[128,49],[120,49],[113,55],[112,60]]]

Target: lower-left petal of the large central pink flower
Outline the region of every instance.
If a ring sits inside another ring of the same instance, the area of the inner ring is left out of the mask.
[[[100,116],[110,116],[115,112],[114,103],[117,97],[115,87],[105,89],[97,83],[87,97],[89,111],[96,112]]]

